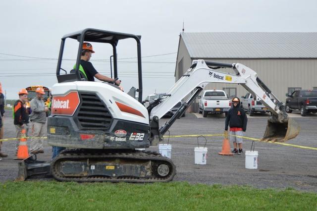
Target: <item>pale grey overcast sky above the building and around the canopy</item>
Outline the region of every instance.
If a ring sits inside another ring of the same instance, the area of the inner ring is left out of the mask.
[[[31,85],[52,87],[61,37],[84,28],[142,36],[143,99],[175,83],[183,21],[185,32],[317,32],[316,0],[1,0],[0,8],[0,82],[7,99]],[[76,58],[76,45],[66,43],[65,58]],[[91,62],[110,76],[110,48],[93,46]],[[135,42],[119,42],[126,92],[138,84],[136,60],[126,59],[135,56]]]

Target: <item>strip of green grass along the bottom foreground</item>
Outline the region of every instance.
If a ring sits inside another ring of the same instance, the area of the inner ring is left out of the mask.
[[[129,184],[56,181],[0,183],[0,211],[317,210],[317,194],[185,182]]]

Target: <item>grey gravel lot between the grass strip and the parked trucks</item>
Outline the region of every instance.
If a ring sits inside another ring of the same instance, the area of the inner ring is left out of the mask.
[[[301,117],[298,113],[292,113],[290,116],[300,123],[302,129],[299,136],[288,141],[287,144],[317,148],[317,115],[309,114],[307,117]],[[262,138],[267,117],[267,114],[256,114],[256,116],[250,117],[245,136]],[[223,133],[224,118],[223,114],[203,118],[198,113],[187,113],[170,128],[170,135]],[[160,124],[166,120],[161,119]],[[13,138],[15,128],[10,110],[6,110],[4,127],[4,138]],[[317,192],[317,150],[256,142],[256,151],[259,151],[258,169],[246,169],[245,155],[220,156],[217,154],[221,151],[222,137],[206,138],[208,140],[206,165],[194,164],[194,147],[197,147],[195,137],[170,138],[172,160],[177,170],[174,181],[251,185],[258,188],[292,187],[297,190]],[[166,141],[167,139],[165,139],[165,143]],[[250,150],[251,143],[250,140],[244,140],[244,150]],[[232,147],[232,143],[230,145]],[[18,160],[13,160],[15,157],[14,146],[15,141],[4,142],[2,145],[2,151],[9,156],[0,160],[0,182],[13,180],[17,176]],[[158,151],[157,146],[150,149]],[[45,153],[40,154],[38,159],[50,160],[51,156],[52,147],[45,144]],[[52,178],[37,177],[35,179]]]

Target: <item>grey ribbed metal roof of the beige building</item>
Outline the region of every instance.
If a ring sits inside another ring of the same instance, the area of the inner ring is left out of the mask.
[[[317,58],[316,32],[181,33],[191,58]]]

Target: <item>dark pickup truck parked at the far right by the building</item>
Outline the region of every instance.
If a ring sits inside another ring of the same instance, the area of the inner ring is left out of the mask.
[[[293,110],[301,110],[301,115],[317,112],[317,90],[296,90],[286,94],[285,110],[291,113]]]

